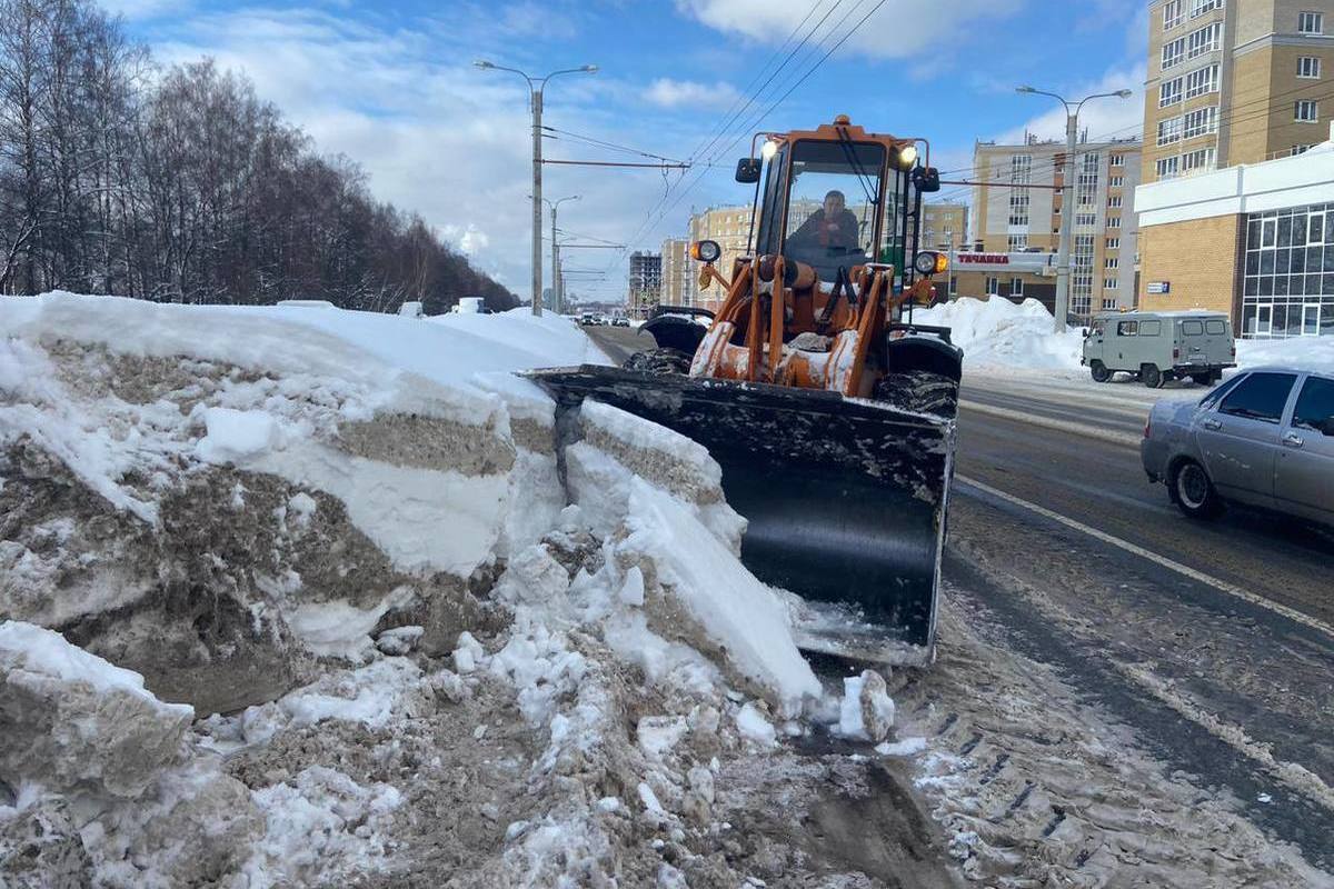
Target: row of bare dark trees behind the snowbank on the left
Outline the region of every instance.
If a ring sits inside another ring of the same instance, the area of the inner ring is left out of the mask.
[[[157,67],[87,0],[0,0],[0,293],[518,305],[244,76]]]

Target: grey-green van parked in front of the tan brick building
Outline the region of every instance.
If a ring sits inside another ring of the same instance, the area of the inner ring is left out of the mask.
[[[1127,371],[1150,389],[1185,379],[1210,385],[1237,367],[1237,344],[1218,312],[1107,312],[1085,331],[1079,363],[1098,383]]]

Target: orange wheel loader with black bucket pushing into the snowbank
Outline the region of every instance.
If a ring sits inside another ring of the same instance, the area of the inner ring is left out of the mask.
[[[798,644],[887,664],[934,658],[962,368],[911,321],[948,265],[916,249],[928,151],[846,116],[756,135],[746,255],[724,275],[716,241],[691,245],[716,312],[663,307],[623,368],[528,375],[558,409],[594,399],[704,445],[748,520],[742,561],[799,597]]]

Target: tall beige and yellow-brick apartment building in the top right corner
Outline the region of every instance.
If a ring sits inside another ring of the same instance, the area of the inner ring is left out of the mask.
[[[1143,181],[1322,141],[1331,67],[1334,0],[1150,0]]]

